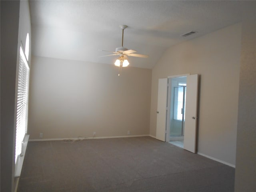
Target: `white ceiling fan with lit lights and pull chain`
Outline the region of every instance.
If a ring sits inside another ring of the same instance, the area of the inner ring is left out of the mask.
[[[119,74],[118,74],[118,76],[121,75],[122,67],[127,67],[129,65],[129,62],[127,60],[127,56],[148,58],[148,55],[135,54],[135,52],[137,52],[136,50],[132,50],[132,49],[128,50],[127,48],[125,48],[123,46],[123,43],[124,43],[124,30],[127,28],[127,25],[120,25],[119,27],[122,29],[122,46],[116,48],[115,52],[101,50],[101,51],[106,51],[106,52],[110,52],[110,53],[113,53],[113,54],[100,56],[100,57],[119,56],[118,59],[115,62],[115,66],[119,67]]]

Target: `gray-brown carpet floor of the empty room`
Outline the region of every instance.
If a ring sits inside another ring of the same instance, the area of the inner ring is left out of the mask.
[[[151,137],[29,142],[18,192],[233,192],[234,172]]]

